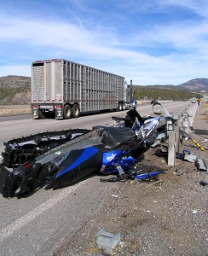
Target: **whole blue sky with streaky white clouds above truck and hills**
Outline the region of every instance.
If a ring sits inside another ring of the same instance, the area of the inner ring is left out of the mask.
[[[64,58],[133,84],[208,78],[207,0],[6,0],[0,76]]]

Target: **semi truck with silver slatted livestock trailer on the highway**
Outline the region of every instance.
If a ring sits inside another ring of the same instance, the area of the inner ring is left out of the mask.
[[[136,107],[124,77],[64,59],[32,62],[32,118]],[[128,101],[126,101],[128,99]]]

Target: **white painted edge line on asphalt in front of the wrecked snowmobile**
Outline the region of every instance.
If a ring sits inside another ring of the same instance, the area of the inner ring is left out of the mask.
[[[43,202],[43,204],[36,207],[31,212],[28,212],[26,215],[16,219],[12,224],[9,224],[8,226],[0,230],[0,242],[6,239],[8,236],[11,236],[15,231],[20,230],[20,228],[30,223],[34,218],[37,218],[43,212],[48,211],[57,202],[64,199],[67,195],[71,194],[74,190],[78,189],[78,187],[80,187],[86,182],[87,180],[80,182],[76,185],[73,185],[72,187],[62,189],[59,195],[55,195],[48,201]]]

